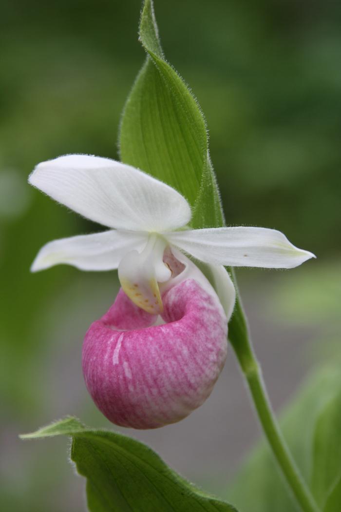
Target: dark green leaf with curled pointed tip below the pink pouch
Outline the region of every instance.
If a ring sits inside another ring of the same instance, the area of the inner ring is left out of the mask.
[[[90,512],[236,512],[204,494],[139,441],[114,432],[86,428],[68,417],[22,439],[72,437],[71,459],[87,479]]]

